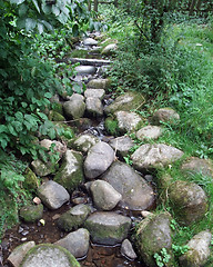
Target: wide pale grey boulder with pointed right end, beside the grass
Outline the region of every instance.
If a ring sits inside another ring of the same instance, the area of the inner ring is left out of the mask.
[[[164,144],[145,144],[131,156],[133,166],[139,169],[161,168],[179,160],[183,152]]]

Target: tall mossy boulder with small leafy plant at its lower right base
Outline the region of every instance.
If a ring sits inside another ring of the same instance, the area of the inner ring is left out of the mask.
[[[169,214],[153,215],[143,219],[136,231],[136,246],[141,258],[148,266],[155,267],[154,254],[160,255],[161,249],[172,254],[172,231],[170,228],[171,216]],[[170,258],[166,266],[174,266]]]

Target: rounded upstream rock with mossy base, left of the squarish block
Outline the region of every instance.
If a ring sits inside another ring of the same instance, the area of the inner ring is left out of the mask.
[[[69,101],[63,103],[64,113],[70,119],[82,118],[85,111],[83,97],[79,93],[73,93]]]

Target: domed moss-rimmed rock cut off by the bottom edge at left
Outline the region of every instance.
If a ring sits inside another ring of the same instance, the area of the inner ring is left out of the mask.
[[[80,267],[74,256],[67,249],[52,244],[34,246],[28,251],[20,267]]]

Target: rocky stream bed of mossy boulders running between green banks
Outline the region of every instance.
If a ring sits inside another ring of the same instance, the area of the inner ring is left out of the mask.
[[[85,82],[87,90],[52,99],[58,108],[49,117],[55,127],[65,128],[65,136],[58,140],[39,136],[39,142],[49,154],[52,146],[60,159],[55,165],[38,159],[28,168],[26,182],[34,188],[38,177],[42,182],[32,205],[20,210],[20,224],[6,233],[0,266],[156,266],[153,256],[162,248],[171,255],[165,266],[174,266],[171,215],[154,214],[158,186],[153,170],[172,166],[184,156],[184,151],[156,141],[164,131],[160,121],[178,123],[181,118],[175,110],[162,108],[148,121],[136,112],[145,101],[139,92],[113,99],[105,77],[111,61],[97,59],[100,38],[94,33],[78,46],[95,59],[70,59],[80,62],[72,79],[80,86]],[[110,56],[115,48],[111,43],[101,55]],[[135,146],[130,132],[143,145],[128,156]],[[213,174],[212,162],[199,158],[186,159],[181,169],[186,175]],[[166,188],[180,222],[190,225],[207,211],[207,196],[196,184],[165,176],[161,186]],[[212,234],[206,229],[193,238],[180,266],[202,266],[210,257]]]

